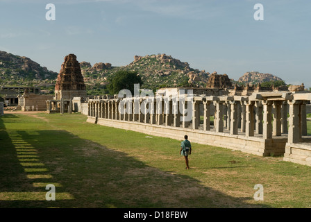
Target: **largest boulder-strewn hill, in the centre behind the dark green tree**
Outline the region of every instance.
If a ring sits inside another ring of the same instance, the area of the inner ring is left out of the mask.
[[[80,62],[86,83],[106,85],[108,77],[119,70],[138,71],[144,88],[178,87],[187,83],[189,86],[203,86],[208,82],[204,70],[192,69],[187,62],[181,62],[165,54],[151,56],[134,56],[134,61],[122,67],[112,67],[110,63],[96,63],[93,67],[89,62]]]

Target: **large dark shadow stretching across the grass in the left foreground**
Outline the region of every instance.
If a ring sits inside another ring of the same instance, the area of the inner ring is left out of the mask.
[[[0,207],[269,207],[65,130],[2,130],[0,137]],[[47,184],[56,185],[55,201],[45,200]]]

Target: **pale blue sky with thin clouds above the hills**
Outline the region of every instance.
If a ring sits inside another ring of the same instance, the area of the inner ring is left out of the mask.
[[[259,71],[311,87],[310,11],[310,0],[0,0],[0,50],[56,72],[69,53],[112,66],[165,53],[235,80]]]

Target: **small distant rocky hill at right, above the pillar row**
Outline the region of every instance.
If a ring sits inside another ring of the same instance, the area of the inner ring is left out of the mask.
[[[241,76],[237,81],[239,83],[257,84],[270,81],[283,81],[283,79],[274,76],[272,74],[262,74],[258,71],[249,71],[246,72],[243,76]]]

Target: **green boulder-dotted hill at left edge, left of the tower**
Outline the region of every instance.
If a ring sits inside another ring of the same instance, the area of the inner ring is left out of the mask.
[[[30,58],[0,51],[0,84],[52,83],[57,75]]]

